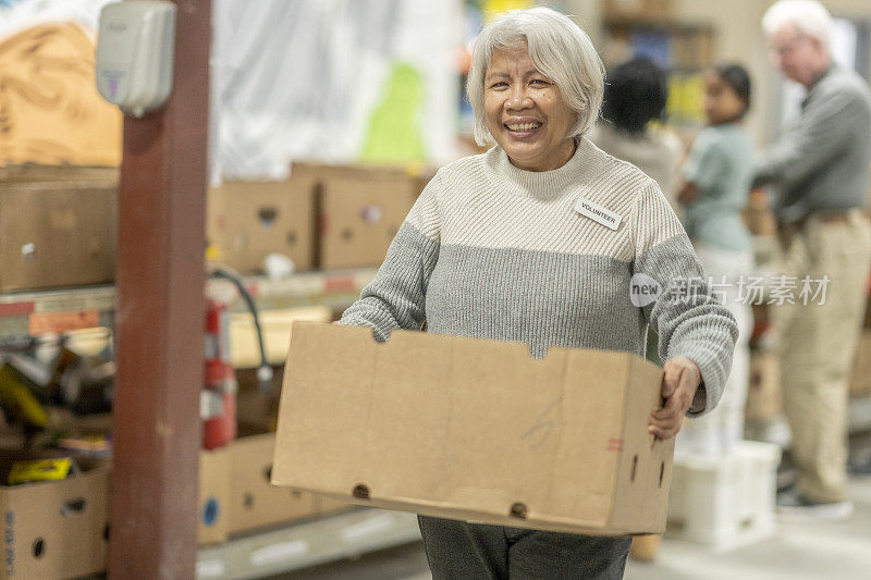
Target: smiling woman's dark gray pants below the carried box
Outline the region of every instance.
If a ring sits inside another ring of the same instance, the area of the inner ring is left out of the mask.
[[[628,538],[590,538],[418,516],[433,580],[619,579]]]

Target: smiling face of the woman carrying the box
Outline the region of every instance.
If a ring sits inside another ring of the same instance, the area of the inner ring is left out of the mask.
[[[493,51],[483,104],[487,128],[515,166],[549,171],[572,158],[568,133],[577,113],[566,107],[556,84],[536,69],[526,42]]]

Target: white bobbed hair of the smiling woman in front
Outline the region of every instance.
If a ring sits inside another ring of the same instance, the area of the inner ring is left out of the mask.
[[[492,141],[483,109],[483,81],[495,49],[526,42],[536,69],[559,88],[566,107],[578,115],[571,137],[587,133],[599,118],[604,66],[590,37],[572,18],[549,8],[511,10],[484,26],[475,40],[466,95],[475,110],[478,145]]]

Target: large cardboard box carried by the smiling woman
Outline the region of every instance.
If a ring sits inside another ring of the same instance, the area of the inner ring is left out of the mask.
[[[662,371],[627,353],[294,324],[272,481],[363,505],[553,531],[665,528]]]

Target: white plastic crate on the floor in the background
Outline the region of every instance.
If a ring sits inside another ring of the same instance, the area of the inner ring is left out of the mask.
[[[781,447],[743,441],[723,457],[675,454],[666,534],[725,552],[775,528]]]

